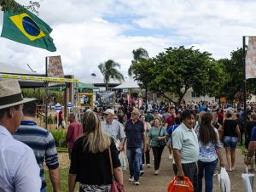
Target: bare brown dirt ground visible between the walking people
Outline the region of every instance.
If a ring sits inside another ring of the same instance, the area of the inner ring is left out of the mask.
[[[224,150],[223,150],[224,155]],[[129,170],[124,171],[124,185],[125,185],[125,192],[140,192],[140,191],[147,191],[147,192],[166,192],[167,186],[174,177],[174,172],[172,170],[172,161],[168,158],[168,150],[165,149],[162,155],[162,161],[160,165],[160,175],[154,176],[154,161],[152,161],[152,154],[151,158],[151,168],[144,167],[144,175],[140,178],[141,185],[135,186],[134,184],[128,181],[129,178]],[[224,160],[225,155],[224,155]],[[67,153],[60,154],[60,164],[61,167],[69,167],[69,160]],[[225,163],[227,165],[227,163]],[[227,166],[226,166],[227,167]],[[241,173],[244,172],[245,167],[243,164],[243,155],[241,155],[241,150],[236,150],[236,170],[233,172],[228,172],[230,176],[230,183],[231,183],[231,192],[242,192],[244,191],[242,180],[241,180]],[[218,178],[215,176],[213,178],[213,192],[218,192]],[[254,190],[256,189],[254,184]]]

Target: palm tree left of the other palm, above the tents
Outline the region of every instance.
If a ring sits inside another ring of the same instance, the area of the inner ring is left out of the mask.
[[[124,76],[116,69],[119,67],[119,63],[113,61],[113,59],[108,59],[104,63],[98,65],[99,70],[104,76],[104,82],[106,83],[106,90],[108,90],[108,83],[110,79],[119,80],[119,82],[124,81]]]

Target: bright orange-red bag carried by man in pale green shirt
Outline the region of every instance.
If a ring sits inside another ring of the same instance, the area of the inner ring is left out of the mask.
[[[168,192],[193,192],[193,184],[188,177],[184,177],[183,180],[174,177],[168,186]]]

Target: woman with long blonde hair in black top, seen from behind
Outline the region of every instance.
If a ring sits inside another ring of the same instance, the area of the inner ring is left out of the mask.
[[[68,174],[69,192],[74,191],[76,181],[80,183],[80,192],[110,190],[112,175],[109,149],[114,177],[123,184],[123,173],[113,138],[102,131],[100,117],[95,112],[84,113],[83,133],[73,144]]]

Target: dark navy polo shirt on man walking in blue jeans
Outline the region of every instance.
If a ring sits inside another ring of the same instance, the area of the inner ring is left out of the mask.
[[[142,147],[143,136],[142,133],[145,132],[143,121],[138,120],[133,123],[129,120],[125,124],[125,133],[127,138],[127,147]]]

